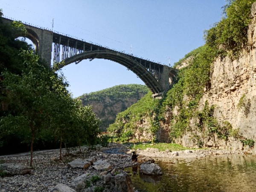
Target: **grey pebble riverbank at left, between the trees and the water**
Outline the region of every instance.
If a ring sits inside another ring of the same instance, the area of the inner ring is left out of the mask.
[[[62,161],[58,160],[58,150],[35,152],[33,158],[34,167],[31,174],[0,178],[0,192],[48,192],[58,183],[64,183],[71,187],[73,180],[84,173],[100,174],[102,172],[93,169],[91,166],[88,169],[69,168],[67,163],[71,160],[93,157],[108,160],[116,169],[124,168],[136,164],[131,161],[131,155],[125,153],[127,150],[126,146],[123,145],[110,146],[107,153],[103,152],[104,148],[90,152],[84,148],[82,154],[79,154],[78,151],[72,151],[72,156],[64,155]],[[29,166],[30,155],[29,153],[23,153],[0,156],[0,160],[5,163],[22,163]]]

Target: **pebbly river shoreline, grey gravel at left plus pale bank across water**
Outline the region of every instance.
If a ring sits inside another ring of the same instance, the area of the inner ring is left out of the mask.
[[[103,171],[93,169],[71,169],[67,163],[76,158],[96,158],[104,159],[110,162],[113,169],[124,169],[128,166],[137,165],[137,162],[132,162],[132,149],[122,144],[110,144],[109,147],[98,148],[88,151],[83,148],[83,153],[79,154],[78,149],[70,151],[70,155],[63,153],[63,160],[59,161],[59,150],[38,151],[34,153],[34,167],[30,174],[15,175],[12,177],[4,177],[0,180],[0,192],[7,191],[49,191],[58,183],[64,183],[72,187],[73,180],[84,174],[100,175]],[[215,155],[241,155],[241,152],[232,152],[228,150],[217,149],[198,149],[170,152],[168,150],[160,152],[158,149],[148,148],[146,150],[136,150],[137,155],[145,155],[154,158],[156,161],[164,161],[171,159],[192,159],[204,158]],[[22,163],[29,165],[29,153],[0,156],[0,160],[5,163]]]

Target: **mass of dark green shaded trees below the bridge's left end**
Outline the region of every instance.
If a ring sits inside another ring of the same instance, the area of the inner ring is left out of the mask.
[[[92,107],[74,100],[64,77],[15,39],[20,29],[0,20],[0,154],[30,148],[32,166],[34,149],[96,144],[100,121]]]

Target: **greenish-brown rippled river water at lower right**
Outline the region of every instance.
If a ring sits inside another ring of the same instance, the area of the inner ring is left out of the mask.
[[[139,192],[256,192],[256,156],[214,156],[156,162],[161,176],[126,170]]]

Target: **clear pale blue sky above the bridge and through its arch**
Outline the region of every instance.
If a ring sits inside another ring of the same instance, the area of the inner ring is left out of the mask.
[[[5,17],[69,34],[111,49],[173,65],[204,44],[225,0],[0,0]],[[73,97],[119,84],[144,84],[109,60],[62,69]]]

